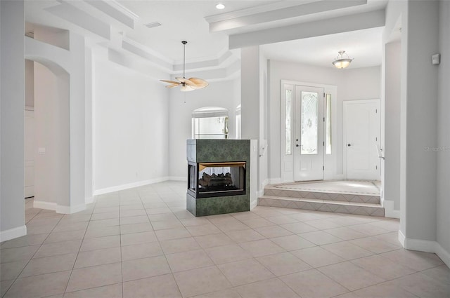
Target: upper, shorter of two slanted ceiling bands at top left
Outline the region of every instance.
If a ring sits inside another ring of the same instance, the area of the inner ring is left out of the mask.
[[[139,19],[139,15],[133,13],[128,8],[122,6],[115,0],[84,0],[87,4],[94,6],[99,11],[109,15],[111,18],[121,22],[122,24],[134,29],[134,22]]]

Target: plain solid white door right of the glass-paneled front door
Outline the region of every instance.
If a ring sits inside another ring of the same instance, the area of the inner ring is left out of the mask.
[[[380,100],[344,102],[344,154],[347,179],[380,180]]]

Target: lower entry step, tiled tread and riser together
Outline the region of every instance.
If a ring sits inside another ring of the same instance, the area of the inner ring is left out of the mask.
[[[292,198],[285,196],[264,195],[258,198],[258,205],[348,213],[354,215],[370,215],[380,217],[385,216],[385,208],[383,208],[380,203],[357,203],[348,201],[323,200],[319,198]]]

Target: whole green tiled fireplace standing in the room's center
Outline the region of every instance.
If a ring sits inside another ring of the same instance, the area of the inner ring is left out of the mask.
[[[187,159],[189,212],[250,210],[250,140],[188,140]]]

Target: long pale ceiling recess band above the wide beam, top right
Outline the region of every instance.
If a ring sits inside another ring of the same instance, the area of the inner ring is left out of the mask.
[[[335,11],[342,8],[361,6],[367,4],[367,0],[343,0],[343,1],[315,1],[297,6],[279,8],[271,11],[263,11],[252,15],[243,15],[226,20],[217,20],[210,22],[210,32],[219,32],[230,29],[237,29],[251,25],[274,22],[290,18],[298,18],[304,15],[314,13],[323,13],[326,11]]]

